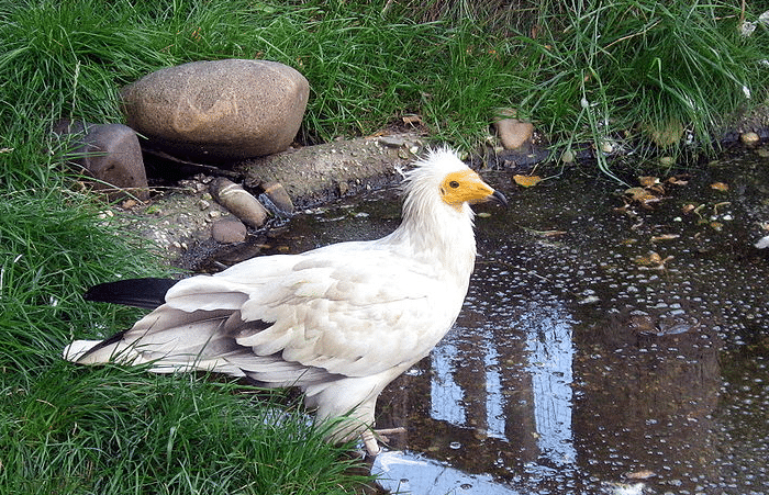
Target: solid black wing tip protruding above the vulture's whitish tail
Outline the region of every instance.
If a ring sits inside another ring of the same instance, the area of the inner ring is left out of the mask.
[[[98,303],[123,304],[125,306],[155,310],[165,304],[166,292],[178,280],[144,278],[131,280],[118,280],[115,282],[100,283],[90,288],[85,294],[86,301]]]

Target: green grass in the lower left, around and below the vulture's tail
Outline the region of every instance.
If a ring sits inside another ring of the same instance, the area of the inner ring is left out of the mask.
[[[161,269],[66,178],[47,180],[0,194],[0,493],[356,491],[354,462],[299,407],[232,381],[60,359],[74,337],[138,315],[85,303],[85,288]]]

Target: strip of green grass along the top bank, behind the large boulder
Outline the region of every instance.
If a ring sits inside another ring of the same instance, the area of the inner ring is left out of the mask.
[[[0,116],[23,121],[22,130],[31,115],[38,125],[59,116],[120,121],[121,86],[161,67],[226,57],[278,60],[305,75],[308,143],[416,114],[437,139],[476,150],[495,112],[515,108],[553,143],[597,140],[594,117],[600,134],[634,137],[677,121],[707,147],[731,116],[767,100],[769,30],[759,24],[749,37],[737,30],[761,12],[753,2],[746,12],[738,2],[684,0],[536,10],[461,0],[0,5],[2,94],[15,103]]]

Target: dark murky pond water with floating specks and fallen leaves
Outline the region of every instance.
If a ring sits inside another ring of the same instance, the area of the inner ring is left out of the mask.
[[[524,190],[509,172],[484,177],[511,207],[477,207],[480,256],[456,326],[381,395],[378,426],[406,428],[375,464],[383,484],[769,493],[769,257],[751,237],[769,159],[721,160],[666,184],[651,209],[622,207],[625,188],[603,178]],[[299,215],[277,243],[375,238],[399,209],[370,194]]]

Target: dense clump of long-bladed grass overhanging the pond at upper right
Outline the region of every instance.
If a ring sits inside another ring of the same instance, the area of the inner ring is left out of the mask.
[[[675,124],[712,153],[727,124],[767,103],[769,30],[742,36],[738,2],[587,0],[572,7],[545,11],[537,37],[511,38],[525,47],[509,48],[538,60],[539,83],[522,106],[561,145],[612,137],[635,146],[650,139],[650,130]],[[662,147],[675,154],[684,137]]]

